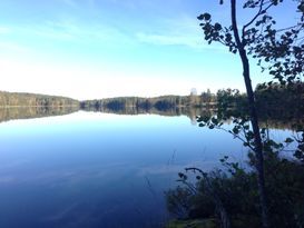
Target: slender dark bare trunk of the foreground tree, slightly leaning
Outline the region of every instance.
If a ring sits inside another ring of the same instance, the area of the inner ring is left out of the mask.
[[[257,171],[257,186],[258,186],[258,194],[259,194],[259,202],[261,202],[261,214],[262,214],[262,225],[264,228],[268,227],[268,212],[267,212],[267,202],[266,202],[266,190],[265,190],[265,175],[264,175],[264,156],[263,156],[263,145],[259,133],[258,127],[258,118],[256,112],[255,106],[255,97],[252,87],[251,80],[251,71],[249,71],[249,61],[247,58],[247,52],[245,50],[244,43],[242,42],[237,29],[237,21],[236,21],[236,0],[231,0],[232,4],[232,26],[234,38],[237,44],[237,50],[242,60],[243,65],[243,76],[247,91],[247,99],[249,105],[249,115],[251,115],[251,122],[253,126],[254,132],[254,142],[255,142],[255,157],[256,157],[256,171]]]

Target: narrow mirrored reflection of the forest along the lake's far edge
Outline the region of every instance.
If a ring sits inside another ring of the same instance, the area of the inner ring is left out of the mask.
[[[90,111],[90,112],[102,112],[102,113],[114,113],[114,115],[125,115],[125,116],[137,116],[137,115],[158,115],[164,117],[178,117],[186,116],[190,119],[192,125],[197,125],[196,117],[203,116],[210,118],[218,115],[217,109],[202,109],[195,107],[16,107],[16,108],[0,108],[0,122],[14,120],[14,119],[31,119],[31,118],[42,118],[51,116],[63,116],[79,110]],[[285,111],[286,112],[286,111]],[[303,116],[292,116],[285,115],[284,111],[272,111],[262,112],[259,116],[261,127],[272,128],[272,129],[292,129],[295,130],[304,126]],[[288,112],[290,113],[290,112]],[[223,115],[223,110],[220,110]],[[237,110],[225,111],[226,117],[238,117]],[[229,118],[227,118],[226,123],[229,125]]]

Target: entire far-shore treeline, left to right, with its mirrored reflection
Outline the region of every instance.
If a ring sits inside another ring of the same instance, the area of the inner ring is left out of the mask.
[[[303,120],[303,82],[258,85],[255,89],[255,97],[262,120]],[[203,112],[205,115],[225,113],[226,116],[244,116],[248,112],[246,95],[236,89],[222,89],[216,93],[207,90],[200,95],[192,93],[189,96],[119,97],[85,101],[58,96],[0,91],[0,107],[38,107],[36,111],[31,109],[27,117],[32,116],[33,112],[50,115],[51,110],[59,113],[79,109],[124,115],[186,115],[192,119]],[[72,109],[68,109],[68,111],[60,110],[67,109],[67,107],[72,107]],[[6,116],[4,112],[3,116]]]

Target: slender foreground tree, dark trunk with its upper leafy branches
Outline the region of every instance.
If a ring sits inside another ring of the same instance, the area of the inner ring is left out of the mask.
[[[256,157],[255,168],[257,171],[257,186],[264,228],[269,226],[264,153],[256,100],[251,81],[248,54],[258,58],[258,65],[263,67],[263,70],[268,69],[269,73],[282,83],[301,80],[304,69],[304,46],[298,42],[298,37],[304,28],[304,1],[296,0],[297,11],[301,13],[300,21],[296,24],[288,28],[275,29],[274,24],[276,24],[276,21],[269,14],[269,9],[282,2],[283,0],[246,0],[243,8],[256,10],[256,13],[241,30],[237,21],[236,0],[229,0],[231,24],[228,27],[223,27],[218,22],[214,23],[212,16],[207,12],[198,17],[198,20],[202,21],[200,26],[204,30],[205,40],[208,43],[213,41],[223,43],[229,48],[231,52],[238,53],[242,61],[254,137],[253,150]],[[223,0],[219,3],[223,4]],[[262,66],[263,62],[266,63],[266,67]]]

